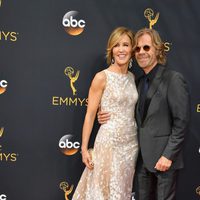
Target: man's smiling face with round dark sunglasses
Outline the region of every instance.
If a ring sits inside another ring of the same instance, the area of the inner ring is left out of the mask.
[[[147,74],[157,64],[156,49],[153,46],[151,36],[147,33],[138,38],[138,43],[135,49],[135,58],[138,65]]]

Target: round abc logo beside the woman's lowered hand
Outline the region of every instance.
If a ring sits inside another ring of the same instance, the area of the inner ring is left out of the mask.
[[[74,155],[80,148],[80,143],[73,140],[72,135],[64,135],[59,141],[59,147],[67,156]]]

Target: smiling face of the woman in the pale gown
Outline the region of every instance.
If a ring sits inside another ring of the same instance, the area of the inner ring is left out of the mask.
[[[132,50],[131,39],[128,35],[123,34],[112,49],[115,64],[127,65],[132,57]]]

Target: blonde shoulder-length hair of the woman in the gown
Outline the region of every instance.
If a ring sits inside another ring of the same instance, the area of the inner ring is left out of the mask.
[[[114,29],[114,31],[111,33],[108,43],[107,43],[107,49],[106,49],[106,60],[107,64],[110,65],[112,57],[113,57],[113,48],[117,44],[118,40],[122,35],[127,35],[131,40],[132,47],[134,46],[134,33],[132,30],[126,28],[126,27],[118,27]]]

